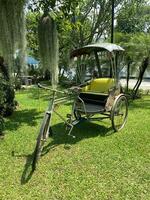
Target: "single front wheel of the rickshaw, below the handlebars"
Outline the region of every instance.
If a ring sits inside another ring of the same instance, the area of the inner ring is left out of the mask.
[[[41,155],[44,142],[49,134],[49,122],[50,122],[50,114],[46,113],[43,123],[41,125],[40,133],[38,135],[36,147],[33,153],[33,162],[32,162],[33,171],[36,169],[37,162]]]

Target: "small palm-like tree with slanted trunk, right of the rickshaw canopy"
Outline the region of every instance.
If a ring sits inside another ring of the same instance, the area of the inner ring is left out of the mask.
[[[127,65],[127,91],[129,75],[136,72],[137,83],[132,91],[135,97],[142,82],[144,72],[149,66],[150,35],[148,33],[124,34],[116,33],[115,40],[125,48],[125,61]]]

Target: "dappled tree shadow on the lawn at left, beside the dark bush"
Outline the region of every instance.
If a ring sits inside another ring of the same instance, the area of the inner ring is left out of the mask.
[[[37,119],[40,118],[40,112],[37,112],[36,109],[17,110],[6,121],[5,130],[17,130],[23,124],[27,124],[28,126],[35,126],[37,125]]]

